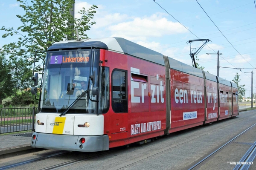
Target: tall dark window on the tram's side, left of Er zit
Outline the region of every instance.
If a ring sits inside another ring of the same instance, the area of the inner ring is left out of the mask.
[[[128,112],[126,71],[114,70],[112,73],[112,109],[114,112]]]

